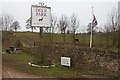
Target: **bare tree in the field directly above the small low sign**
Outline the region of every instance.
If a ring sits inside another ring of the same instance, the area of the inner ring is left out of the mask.
[[[65,32],[68,27],[68,18],[66,15],[62,15],[61,18],[58,21],[57,28],[59,31],[63,34],[64,37],[64,43],[65,43]]]

